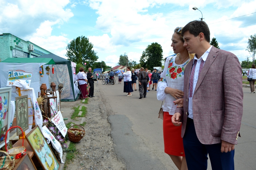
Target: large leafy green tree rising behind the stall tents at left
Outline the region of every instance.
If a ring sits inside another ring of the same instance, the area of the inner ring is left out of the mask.
[[[67,54],[68,60],[78,63],[86,63],[86,66],[92,67],[93,63],[98,60],[97,53],[94,52],[93,44],[85,36],[77,37],[68,44]]]

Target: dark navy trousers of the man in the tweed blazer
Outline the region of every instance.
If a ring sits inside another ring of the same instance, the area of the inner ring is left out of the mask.
[[[220,144],[202,144],[197,136],[193,119],[188,118],[183,137],[184,151],[188,170],[207,170],[207,154],[209,154],[212,170],[234,170],[234,154],[220,152]]]

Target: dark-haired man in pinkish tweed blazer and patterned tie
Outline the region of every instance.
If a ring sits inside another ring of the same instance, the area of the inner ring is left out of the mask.
[[[172,116],[182,124],[188,169],[207,169],[209,154],[213,170],[234,169],[243,114],[241,65],[236,55],[210,45],[204,21],[188,23],[181,34],[184,47],[195,53],[184,71],[183,108]]]

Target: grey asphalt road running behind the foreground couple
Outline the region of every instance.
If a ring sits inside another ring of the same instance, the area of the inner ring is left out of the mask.
[[[110,114],[108,121],[118,159],[125,162],[127,170],[177,169],[164,153],[163,121],[157,118],[161,101],[156,99],[155,89],[151,86],[147,98],[139,99],[139,90],[126,96],[123,83],[122,80],[122,84],[118,84],[116,78],[115,85],[102,85],[101,81],[97,85]],[[256,93],[249,93],[250,88],[243,91],[242,137],[235,146],[235,169],[251,170],[256,167]],[[210,161],[208,169],[211,169]]]

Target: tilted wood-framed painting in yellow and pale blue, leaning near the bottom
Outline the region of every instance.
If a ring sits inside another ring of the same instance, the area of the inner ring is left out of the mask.
[[[40,162],[41,166],[44,170],[52,169],[59,170],[60,164],[53,154],[50,146],[47,144],[41,130],[38,126],[33,128],[28,135],[26,135],[26,139],[34,151],[36,158]],[[46,161],[45,161],[46,160]],[[50,163],[50,164],[48,164]]]

